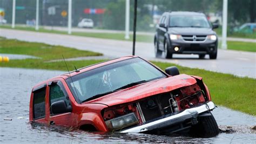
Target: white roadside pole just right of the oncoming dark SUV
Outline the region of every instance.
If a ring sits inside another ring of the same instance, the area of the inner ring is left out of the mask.
[[[227,0],[223,0],[223,25],[221,49],[227,49]]]

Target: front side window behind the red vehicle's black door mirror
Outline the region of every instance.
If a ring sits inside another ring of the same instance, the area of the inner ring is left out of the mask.
[[[65,100],[67,105],[70,105],[69,100],[67,99],[67,95],[66,92],[64,90],[64,87],[62,86],[62,83],[60,83],[60,81],[58,81],[55,84],[50,85],[50,105],[53,102],[59,101],[59,100]],[[50,108],[50,113],[51,112],[51,108]]]

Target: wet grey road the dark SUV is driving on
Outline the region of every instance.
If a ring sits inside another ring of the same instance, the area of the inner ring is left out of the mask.
[[[107,57],[116,58],[132,54],[132,42],[39,33],[21,30],[0,29],[0,36],[16,38],[28,42],[41,42],[53,45],[75,47],[80,50],[90,50],[103,53]],[[256,43],[255,43],[256,47]],[[198,55],[174,54],[173,59],[155,58],[153,44],[136,43],[136,55],[148,60],[166,61],[181,66],[203,68],[205,70],[230,73],[240,77],[256,78],[256,53],[232,50],[218,50],[217,60],[198,59]]]

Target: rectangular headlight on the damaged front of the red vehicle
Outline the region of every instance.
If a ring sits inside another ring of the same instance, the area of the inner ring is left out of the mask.
[[[118,118],[114,118],[105,122],[106,122],[107,128],[109,128],[110,131],[122,129],[122,128],[139,123],[134,113],[129,113],[123,116],[119,116]]]

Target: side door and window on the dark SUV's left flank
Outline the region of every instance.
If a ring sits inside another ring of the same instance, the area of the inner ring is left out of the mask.
[[[158,38],[159,38],[159,49],[164,50],[164,39],[165,33],[167,31],[167,15],[163,15],[160,20],[159,28],[158,28]],[[164,25],[165,28],[161,27],[160,25]]]

